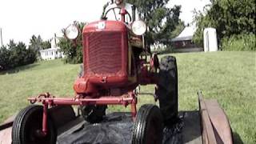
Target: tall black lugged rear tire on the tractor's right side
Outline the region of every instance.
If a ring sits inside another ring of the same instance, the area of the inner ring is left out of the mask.
[[[178,69],[176,58],[161,59],[158,90],[160,110],[165,126],[172,126],[178,120]]]

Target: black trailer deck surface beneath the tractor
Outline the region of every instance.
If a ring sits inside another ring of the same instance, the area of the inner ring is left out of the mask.
[[[182,122],[164,129],[164,144],[202,143],[198,111],[179,113]],[[101,123],[90,124],[81,117],[58,130],[58,144],[131,143],[133,122],[130,113],[111,113]]]

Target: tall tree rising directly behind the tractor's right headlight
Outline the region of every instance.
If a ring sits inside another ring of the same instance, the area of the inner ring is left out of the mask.
[[[148,26],[146,46],[171,38],[179,21],[181,6],[166,7],[169,0],[128,0],[138,9],[140,18]],[[165,41],[166,42],[166,41]]]

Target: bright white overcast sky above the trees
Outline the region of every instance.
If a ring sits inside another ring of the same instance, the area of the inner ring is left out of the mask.
[[[107,0],[1,0],[0,27],[3,44],[10,39],[25,42],[33,34],[40,34],[44,40],[71,22],[92,22],[98,20],[102,6]],[[170,0],[169,6],[181,5],[180,18],[188,23],[193,20],[192,10],[202,10],[209,0]],[[0,43],[1,45],[1,43]]]

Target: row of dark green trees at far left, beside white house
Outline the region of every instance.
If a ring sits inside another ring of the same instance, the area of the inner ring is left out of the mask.
[[[43,41],[40,35],[33,35],[29,46],[24,42],[10,40],[0,48],[0,71],[34,63],[41,58],[39,50],[47,48],[50,48],[50,41]]]

